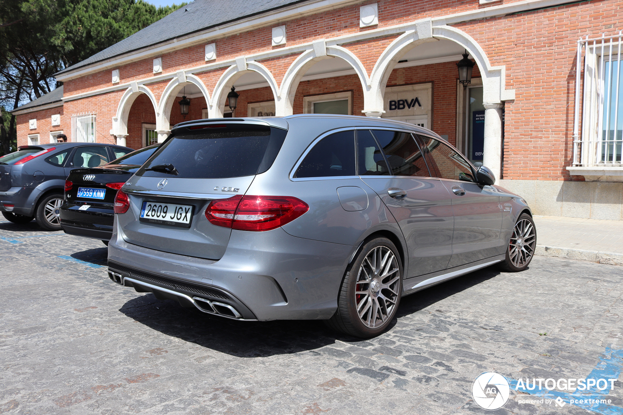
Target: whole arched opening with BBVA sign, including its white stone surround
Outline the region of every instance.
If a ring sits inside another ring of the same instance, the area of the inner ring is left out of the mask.
[[[419,106],[421,100],[414,100],[416,97],[411,95],[416,92],[430,95],[428,117],[416,112],[412,115],[421,118],[412,117],[410,121],[445,136],[473,161],[482,160],[499,179],[503,102],[515,98],[514,90],[505,89],[505,68],[490,65],[482,47],[459,29],[432,26],[430,21],[422,22],[416,28],[416,31],[406,32],[392,42],[374,66],[370,78],[373,91],[378,92],[376,102],[382,101],[379,114],[390,118],[406,117],[409,115],[406,110],[413,110],[414,104],[416,110],[422,109]],[[472,74],[473,91],[462,90],[457,82],[455,63],[465,51],[476,64]],[[401,95],[405,98],[409,95],[408,101],[400,98]],[[435,102],[435,97],[443,102]],[[468,104],[472,99],[478,105],[470,109]],[[475,135],[478,135],[477,140],[474,140]],[[482,150],[479,147],[481,136]]]

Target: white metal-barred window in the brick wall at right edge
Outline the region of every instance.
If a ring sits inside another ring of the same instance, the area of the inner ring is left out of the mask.
[[[578,41],[574,166],[623,167],[622,33]]]

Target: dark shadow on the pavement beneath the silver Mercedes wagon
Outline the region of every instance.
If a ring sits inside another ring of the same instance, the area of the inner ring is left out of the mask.
[[[500,270],[490,267],[404,297],[397,318],[416,313],[498,274]],[[333,332],[320,320],[239,322],[213,317],[195,308],[183,308],[173,300],[158,300],[151,293],[131,299],[119,311],[165,335],[237,357],[254,358],[310,351],[331,345],[335,340],[353,345],[365,341]],[[394,318],[391,327],[396,322]]]

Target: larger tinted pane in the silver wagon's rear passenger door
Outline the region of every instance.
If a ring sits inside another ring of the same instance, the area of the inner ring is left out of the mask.
[[[411,134],[386,130],[372,132],[383,147],[394,176],[430,176],[422,151]]]

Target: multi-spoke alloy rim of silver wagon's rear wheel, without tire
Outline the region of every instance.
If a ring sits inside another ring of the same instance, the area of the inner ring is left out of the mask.
[[[366,327],[379,327],[394,315],[399,284],[396,255],[386,246],[368,252],[359,267],[355,285],[357,314]]]

